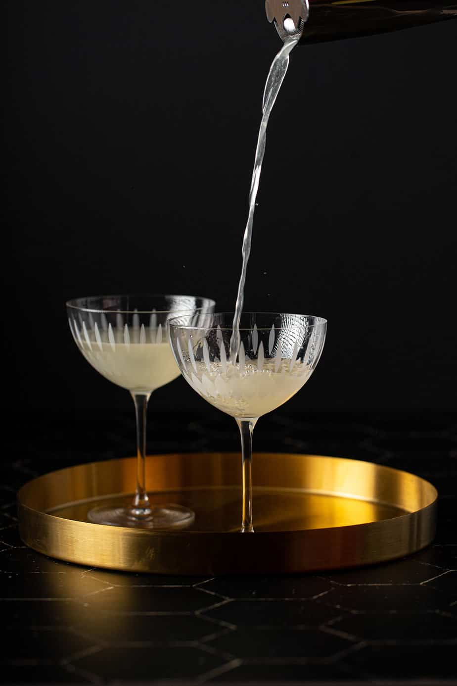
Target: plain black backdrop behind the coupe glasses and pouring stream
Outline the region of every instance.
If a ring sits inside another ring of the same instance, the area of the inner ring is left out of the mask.
[[[14,367],[14,407],[130,407],[79,355],[64,302],[183,292],[232,309],[280,39],[262,0],[4,7],[3,364],[5,375]],[[329,320],[291,412],[456,407],[456,29],[291,56],[245,298],[246,309]],[[182,379],[153,402],[213,411]]]

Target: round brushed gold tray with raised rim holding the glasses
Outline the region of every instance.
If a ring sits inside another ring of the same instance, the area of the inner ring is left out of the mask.
[[[195,511],[185,530],[87,521],[97,504],[134,492],[136,459],[60,469],[18,493],[24,543],[90,567],[166,574],[294,573],[368,565],[431,543],[436,489],[386,466],[315,455],[253,459],[254,534],[240,534],[239,453],[147,458],[153,503]]]

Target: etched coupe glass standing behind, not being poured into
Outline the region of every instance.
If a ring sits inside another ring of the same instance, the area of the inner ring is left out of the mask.
[[[103,377],[127,389],[135,403],[137,470],[133,502],[108,504],[88,513],[113,526],[164,529],[188,525],[194,513],[180,505],[151,506],[145,486],[146,413],[151,392],[176,379],[180,370],[169,346],[166,322],[182,314],[193,322],[214,309],[196,296],[130,295],[77,298],[66,303],[75,343]]]

